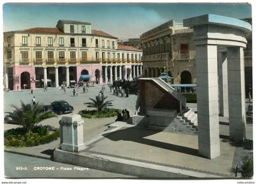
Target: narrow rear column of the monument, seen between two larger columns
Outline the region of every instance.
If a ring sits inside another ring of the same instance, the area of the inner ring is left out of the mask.
[[[229,97],[227,89],[227,52],[218,52],[219,115],[229,117]]]

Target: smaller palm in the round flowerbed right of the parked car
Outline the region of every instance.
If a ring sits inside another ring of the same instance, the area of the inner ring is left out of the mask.
[[[113,106],[112,101],[105,101],[107,99],[107,96],[95,96],[95,99],[89,98],[93,102],[86,103],[88,107],[94,107],[97,108],[98,112],[101,112],[104,108]],[[105,102],[104,102],[105,101]]]

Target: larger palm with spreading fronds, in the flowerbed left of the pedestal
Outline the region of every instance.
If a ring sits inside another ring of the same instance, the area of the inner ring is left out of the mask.
[[[46,110],[38,102],[32,105],[24,104],[21,101],[21,107],[16,107],[15,105],[11,105],[11,107],[15,108],[15,110],[13,112],[7,112],[7,123],[23,126],[24,132],[29,132],[29,130],[44,119],[56,117],[52,111]]]

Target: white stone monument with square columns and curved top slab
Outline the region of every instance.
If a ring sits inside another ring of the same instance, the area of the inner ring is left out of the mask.
[[[221,105],[221,111],[226,112],[226,115],[229,112],[230,139],[244,140],[246,111],[243,49],[246,48],[246,35],[251,33],[251,24],[240,19],[208,14],[184,19],[183,26],[194,29],[199,154],[215,158],[220,155],[219,101],[229,104]],[[222,77],[219,99],[218,52],[221,53],[219,61],[222,62],[219,65],[219,77]],[[225,80],[226,83],[223,82]]]

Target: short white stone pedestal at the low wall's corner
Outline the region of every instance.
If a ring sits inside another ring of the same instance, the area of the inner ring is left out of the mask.
[[[84,144],[84,120],[80,115],[66,115],[62,117],[60,124],[60,148],[68,151],[85,149]]]

